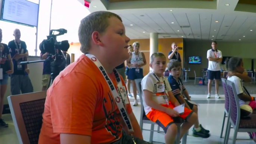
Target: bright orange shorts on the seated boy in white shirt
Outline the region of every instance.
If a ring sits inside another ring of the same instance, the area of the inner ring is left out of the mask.
[[[162,106],[164,107],[168,107],[170,109],[173,109],[175,106],[169,102],[169,106],[167,104],[162,104]],[[185,107],[184,109],[184,113],[183,115],[180,115],[179,117],[181,117],[182,119],[186,120],[188,119],[191,114],[193,113],[192,110],[189,110]],[[151,120],[152,122],[155,122],[157,123],[157,125],[159,125],[161,128],[163,128],[163,130],[167,131],[168,127],[174,123],[173,119],[171,116],[169,116],[168,114],[160,111],[160,110],[155,110],[155,109],[152,109],[149,113],[147,113],[147,118],[149,120]]]

